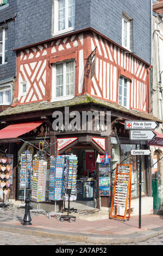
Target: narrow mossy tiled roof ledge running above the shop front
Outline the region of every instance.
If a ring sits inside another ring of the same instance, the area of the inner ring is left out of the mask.
[[[127,109],[123,106],[120,106],[116,103],[112,103],[103,99],[98,99],[97,97],[93,97],[90,95],[80,95],[80,96],[74,96],[71,100],[65,100],[65,101],[55,101],[55,102],[36,102],[36,103],[29,103],[29,104],[23,104],[23,105],[17,105],[15,107],[8,107],[4,111],[0,113],[0,118],[3,118],[4,116],[10,116],[15,114],[25,114],[25,113],[32,113],[32,112],[38,112],[38,111],[46,111],[48,109],[55,109],[60,107],[72,107],[72,106],[78,106],[78,105],[87,105],[87,104],[95,104],[107,107],[109,109],[112,109],[114,111],[126,113],[129,115],[133,115],[134,117],[137,117],[138,119],[146,119],[146,120],[154,120],[158,123],[162,123],[163,121],[159,118],[154,117],[152,114],[145,113],[145,112],[138,112],[131,109]]]

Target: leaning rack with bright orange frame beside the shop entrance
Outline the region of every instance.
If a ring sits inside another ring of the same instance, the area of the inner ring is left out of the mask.
[[[131,164],[117,164],[114,190],[111,200],[110,219],[119,218],[123,221],[126,221],[126,218],[127,220],[130,219],[131,170]],[[127,208],[129,209],[128,216],[126,216]],[[117,209],[119,210],[120,214],[117,214]]]

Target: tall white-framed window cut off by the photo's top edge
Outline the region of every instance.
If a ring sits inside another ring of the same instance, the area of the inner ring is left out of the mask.
[[[54,0],[54,34],[74,29],[75,0]]]

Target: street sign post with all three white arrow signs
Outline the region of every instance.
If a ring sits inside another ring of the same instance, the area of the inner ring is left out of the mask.
[[[155,121],[125,121],[124,127],[130,130],[130,140],[140,141],[140,150],[132,150],[131,155],[140,155],[139,161],[139,228],[141,228],[141,171],[142,155],[151,155],[151,150],[142,150],[142,141],[151,141],[156,137],[152,130],[159,126]],[[151,130],[150,130],[151,129]],[[148,151],[148,152],[147,152]]]

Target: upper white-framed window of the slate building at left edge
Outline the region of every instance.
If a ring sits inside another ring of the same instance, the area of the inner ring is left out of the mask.
[[[8,29],[0,29],[0,65],[8,62]]]

